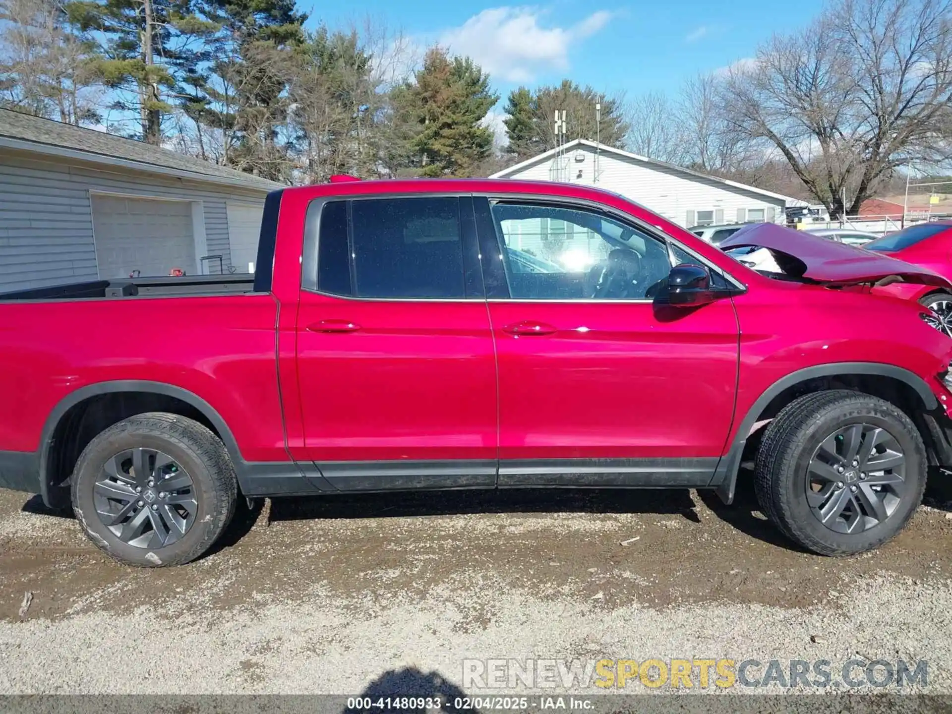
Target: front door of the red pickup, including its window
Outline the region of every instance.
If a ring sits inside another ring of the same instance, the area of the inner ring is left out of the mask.
[[[663,304],[672,264],[699,259],[598,209],[476,206],[484,252],[503,258],[484,263],[499,364],[499,485],[706,486],[737,388],[728,291],[704,307]]]

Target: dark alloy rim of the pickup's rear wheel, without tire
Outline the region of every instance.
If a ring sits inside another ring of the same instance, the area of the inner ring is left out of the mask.
[[[182,538],[195,521],[195,485],[182,466],[154,448],[130,448],[108,459],[92,487],[102,524],[120,541],[160,548]]]

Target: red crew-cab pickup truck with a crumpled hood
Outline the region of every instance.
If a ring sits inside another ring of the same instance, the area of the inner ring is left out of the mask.
[[[787,536],[860,552],[910,518],[928,465],[952,465],[952,340],[918,304],[849,287],[948,284],[795,243],[771,278],[593,188],[277,191],[253,282],[0,295],[0,486],[71,505],[96,545],[149,566],[201,555],[239,495],[691,487],[729,503],[755,458]]]

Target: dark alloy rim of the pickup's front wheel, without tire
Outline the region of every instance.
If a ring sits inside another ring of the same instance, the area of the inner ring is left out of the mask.
[[[851,424],[817,447],[807,466],[806,503],[838,533],[859,533],[883,523],[906,493],[905,455],[880,426]]]

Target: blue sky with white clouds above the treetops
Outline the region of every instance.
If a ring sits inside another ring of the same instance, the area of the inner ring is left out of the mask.
[[[414,44],[438,41],[488,69],[495,89],[534,86],[568,77],[628,97],[661,89],[753,56],[773,32],[806,24],[818,0],[552,0],[496,5],[475,0],[349,0],[299,7],[308,25],[331,27],[369,16],[400,29]],[[502,102],[498,106],[502,108]]]

